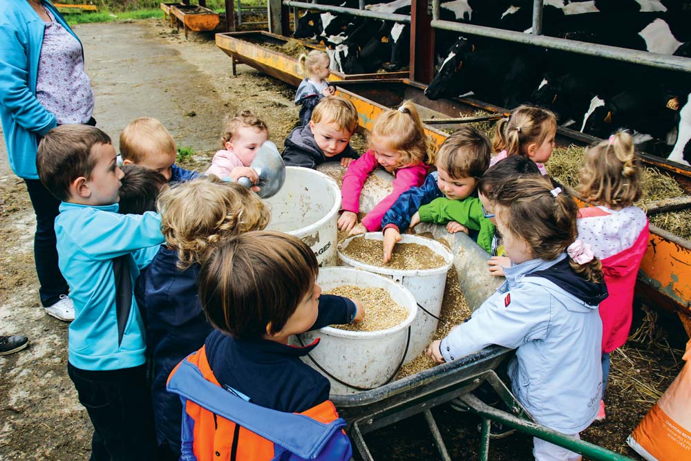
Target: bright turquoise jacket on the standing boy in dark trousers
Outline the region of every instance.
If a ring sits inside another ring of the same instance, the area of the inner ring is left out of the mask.
[[[161,217],[151,211],[117,214],[117,207],[63,202],[55,218],[60,272],[75,304],[68,359],[82,370],[120,370],[146,361],[133,285],[163,242]]]

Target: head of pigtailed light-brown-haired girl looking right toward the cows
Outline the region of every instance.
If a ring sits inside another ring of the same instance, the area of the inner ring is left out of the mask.
[[[492,151],[498,152],[489,166],[509,156],[524,156],[538,165],[540,173],[547,174],[543,163],[554,150],[557,119],[547,109],[534,106],[518,106],[511,115],[496,124]]]

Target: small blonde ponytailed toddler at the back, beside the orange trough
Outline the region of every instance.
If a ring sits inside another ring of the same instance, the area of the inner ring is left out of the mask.
[[[325,96],[330,96],[336,91],[329,86],[326,79],[331,75],[329,70],[329,55],[321,50],[312,50],[310,54],[304,53],[298,58],[298,67],[302,75],[307,75],[295,93],[295,105],[301,105],[300,125],[305,126],[312,118],[314,106]]]

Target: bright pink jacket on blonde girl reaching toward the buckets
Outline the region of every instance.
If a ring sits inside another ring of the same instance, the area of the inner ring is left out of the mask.
[[[365,184],[367,177],[375,171],[379,163],[375,159],[372,151],[367,151],[359,159],[355,160],[348,167],[348,171],[343,176],[343,187],[341,187],[341,208],[343,211],[360,211],[360,192]],[[363,225],[369,232],[381,229],[381,218],[384,218],[386,211],[394,204],[397,198],[410,187],[419,187],[425,180],[427,167],[424,164],[409,165],[395,171],[396,178],[393,180],[393,191],[384,197],[377,206],[372,208],[367,216],[362,218]]]

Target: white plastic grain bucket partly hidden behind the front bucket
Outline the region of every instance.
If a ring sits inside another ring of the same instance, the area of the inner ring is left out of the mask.
[[[384,235],[381,232],[370,232],[364,234],[364,237],[372,240],[384,240]],[[446,273],[453,265],[453,254],[446,249],[441,243],[430,238],[425,238],[417,235],[403,234],[401,243],[417,243],[424,245],[436,254],[444,257],[446,262],[442,267],[435,269],[412,269],[412,270],[396,270],[390,267],[379,267],[369,265],[356,261],[350,256],[343,254],[343,250],[348,247],[352,241],[351,237],[341,243],[339,249],[339,257],[343,261],[343,265],[357,267],[358,269],[366,270],[388,276],[391,279],[401,283],[408,288],[419,306],[419,312],[415,317],[415,322],[412,327],[412,335],[410,337],[410,347],[408,348],[408,355],[404,364],[412,361],[420,352],[430,344],[437,326],[439,325],[439,313],[442,311],[442,300],[444,299],[444,288],[446,287]],[[396,251],[394,249],[394,251]],[[382,254],[382,257],[384,254]]]

